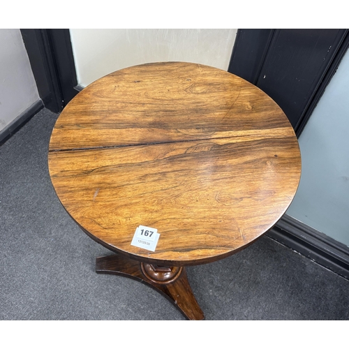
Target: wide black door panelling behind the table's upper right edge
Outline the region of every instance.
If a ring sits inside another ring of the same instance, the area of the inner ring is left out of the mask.
[[[238,29],[228,71],[272,97],[299,137],[348,47],[348,29]]]

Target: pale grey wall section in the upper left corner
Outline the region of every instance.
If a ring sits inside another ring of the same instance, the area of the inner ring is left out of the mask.
[[[0,131],[38,99],[20,29],[0,29]]]

